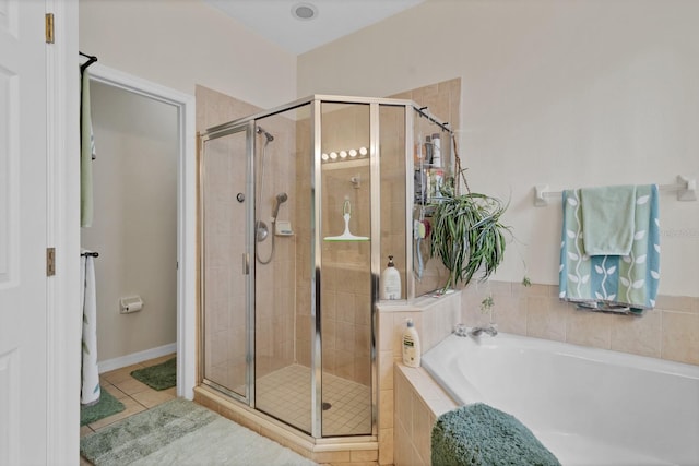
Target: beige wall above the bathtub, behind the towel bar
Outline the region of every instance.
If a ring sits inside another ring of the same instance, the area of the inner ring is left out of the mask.
[[[459,76],[471,188],[510,199],[497,279],[558,283],[560,203],[533,187],[699,177],[691,1],[428,0],[298,60],[298,93],[383,96]],[[380,76],[380,79],[377,79]],[[699,203],[661,198],[660,294],[699,296]]]

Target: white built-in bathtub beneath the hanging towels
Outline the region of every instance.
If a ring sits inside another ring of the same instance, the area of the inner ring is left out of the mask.
[[[562,465],[699,465],[699,366],[502,334],[423,366],[459,404],[517,417]]]

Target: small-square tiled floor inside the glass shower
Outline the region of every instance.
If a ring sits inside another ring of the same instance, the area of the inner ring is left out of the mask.
[[[310,431],[310,368],[287,366],[257,381],[258,409]],[[371,433],[371,390],[367,385],[323,373],[323,437]]]

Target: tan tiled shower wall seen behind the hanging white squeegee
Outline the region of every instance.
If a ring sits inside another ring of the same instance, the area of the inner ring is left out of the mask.
[[[322,151],[369,146],[369,113],[366,105],[327,105],[322,113]],[[297,274],[297,354],[299,363],[310,366],[311,315],[310,289],[312,264],[310,127],[299,122],[297,141],[299,156],[296,171],[299,198],[307,200],[298,212],[296,260],[303,270]],[[358,182],[352,182],[355,178]],[[370,178],[368,159],[336,162],[322,170],[319,191],[322,205],[320,235],[339,236],[344,230],[343,205],[351,203],[350,230],[355,236],[370,236]],[[371,275],[368,241],[322,241],[321,332],[323,370],[363,384],[371,382]]]

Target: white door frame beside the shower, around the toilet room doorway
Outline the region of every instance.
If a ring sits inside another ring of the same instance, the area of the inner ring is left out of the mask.
[[[194,96],[94,63],[92,81],[177,108],[177,396],[192,399],[196,383],[197,296],[197,153]]]

